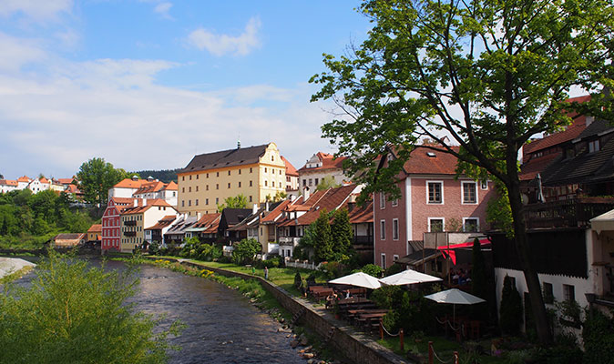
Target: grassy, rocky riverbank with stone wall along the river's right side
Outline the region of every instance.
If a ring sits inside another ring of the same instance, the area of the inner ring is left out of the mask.
[[[159,257],[151,257],[160,259]],[[302,324],[312,329],[324,344],[340,353],[344,358],[354,363],[364,364],[401,364],[407,360],[394,354],[389,349],[377,343],[373,338],[357,331],[346,322],[335,319],[332,312],[327,311],[322,305],[313,305],[307,299],[292,297],[285,289],[273,284],[271,281],[251,274],[231,271],[223,268],[215,268],[206,262],[191,261],[189,259],[164,258],[169,261],[179,262],[181,265],[208,269],[225,277],[235,277],[244,280],[258,280],[263,288],[277,299],[284,308],[292,315],[291,324],[301,321]]]

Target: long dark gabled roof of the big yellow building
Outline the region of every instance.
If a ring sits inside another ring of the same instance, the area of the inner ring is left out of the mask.
[[[260,157],[264,156],[267,147],[269,147],[269,144],[200,154],[193,157],[188,166],[179,170],[178,173],[255,164],[260,161]]]

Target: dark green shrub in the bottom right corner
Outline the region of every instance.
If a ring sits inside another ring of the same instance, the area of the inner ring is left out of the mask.
[[[614,363],[614,319],[592,308],[586,313],[582,329],[584,363]]]

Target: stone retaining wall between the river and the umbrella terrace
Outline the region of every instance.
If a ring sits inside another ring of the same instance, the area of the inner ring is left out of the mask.
[[[169,259],[170,260],[170,259]],[[333,336],[329,340],[329,345],[337,349],[342,355],[352,360],[353,363],[358,364],[400,364],[408,363],[408,361],[402,359],[398,355],[394,354],[388,349],[385,349],[380,344],[376,343],[373,339],[363,337],[363,335],[351,332],[352,329],[336,326],[333,322],[325,319],[318,312],[311,307],[303,305],[299,300],[292,298],[285,289],[280,288],[270,281],[261,278],[254,277],[248,274],[240,272],[233,272],[226,269],[211,268],[209,266],[203,266],[195,263],[180,261],[181,264],[195,267],[195,268],[207,268],[213,272],[225,277],[240,277],[243,279],[258,279],[262,287],[273,295],[288,312],[293,315],[304,311],[300,318],[301,322],[315,331],[322,338],[327,338],[332,331]]]

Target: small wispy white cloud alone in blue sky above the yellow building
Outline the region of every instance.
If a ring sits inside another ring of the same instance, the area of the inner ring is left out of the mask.
[[[261,21],[258,17],[252,17],[242,34],[237,36],[218,35],[204,28],[194,30],[188,35],[187,42],[200,50],[207,50],[214,56],[224,56],[234,54],[236,56],[246,56],[253,49],[261,45],[258,31]]]

